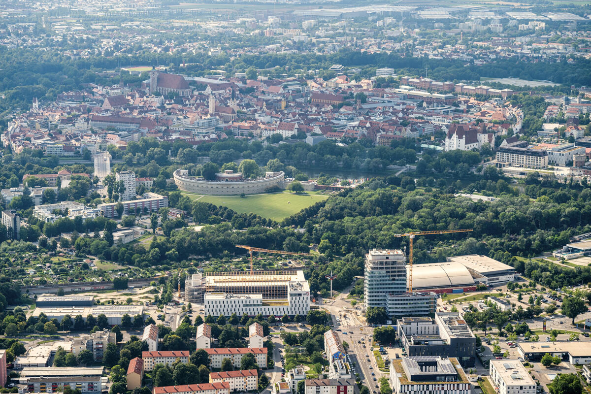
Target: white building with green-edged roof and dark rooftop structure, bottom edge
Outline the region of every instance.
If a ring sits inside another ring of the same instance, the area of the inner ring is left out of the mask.
[[[470,394],[466,373],[455,358],[402,357],[390,363],[390,385],[395,394]],[[417,387],[420,389],[417,390]]]

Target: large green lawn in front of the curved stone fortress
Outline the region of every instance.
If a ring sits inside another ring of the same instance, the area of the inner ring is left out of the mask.
[[[191,199],[225,206],[238,213],[256,213],[262,217],[281,221],[328,196],[316,193],[292,194],[271,193],[253,194],[251,196],[199,196],[198,194],[183,193]]]

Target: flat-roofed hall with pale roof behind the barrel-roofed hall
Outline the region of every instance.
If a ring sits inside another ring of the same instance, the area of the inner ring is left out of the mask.
[[[515,280],[515,268],[488,256],[453,256],[447,261],[462,264],[470,271],[474,281],[483,285],[497,286]]]

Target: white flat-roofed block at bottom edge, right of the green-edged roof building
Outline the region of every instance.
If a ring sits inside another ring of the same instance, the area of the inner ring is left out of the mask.
[[[519,360],[491,360],[489,373],[499,394],[535,394],[537,385]]]

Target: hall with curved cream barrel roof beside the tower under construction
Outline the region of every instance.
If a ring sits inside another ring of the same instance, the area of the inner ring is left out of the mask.
[[[409,276],[410,265],[407,265],[407,278]],[[458,262],[415,264],[413,290],[433,291],[437,294],[463,293],[475,291],[476,284],[466,266]]]

